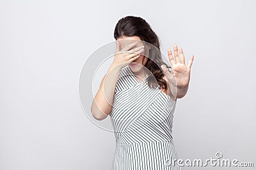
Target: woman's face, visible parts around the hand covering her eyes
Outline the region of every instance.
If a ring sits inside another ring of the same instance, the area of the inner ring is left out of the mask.
[[[143,41],[141,41],[140,37],[138,36],[121,36],[120,38],[117,38],[117,40],[121,40],[120,42],[120,50],[122,50],[125,46],[129,45],[132,42],[138,41],[138,43],[133,46],[131,49],[136,48],[138,46],[142,46],[145,44],[143,44]],[[146,50],[146,46],[145,46],[145,50]],[[141,69],[143,69],[145,63],[147,62],[147,57],[145,57],[145,50],[141,53],[140,57],[134,61],[132,61],[132,64],[129,64],[128,66],[131,68],[131,70],[133,72],[139,72],[141,71]],[[145,59],[143,60],[143,58],[145,57]],[[142,63],[143,60],[143,63]]]

